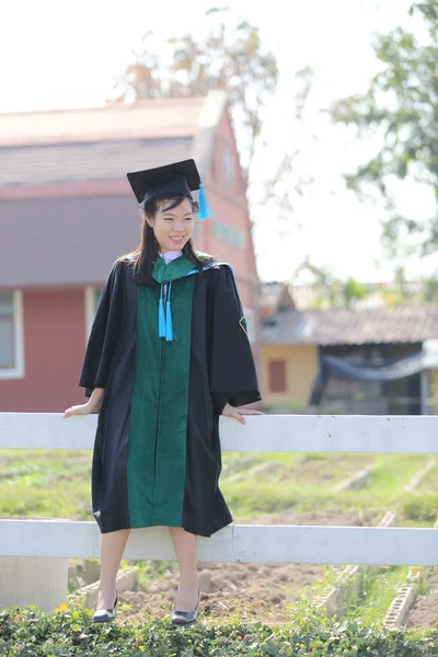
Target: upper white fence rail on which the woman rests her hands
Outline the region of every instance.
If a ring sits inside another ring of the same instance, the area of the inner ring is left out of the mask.
[[[96,416],[0,413],[0,449],[91,449]],[[223,451],[438,453],[436,415],[262,415],[220,418]]]

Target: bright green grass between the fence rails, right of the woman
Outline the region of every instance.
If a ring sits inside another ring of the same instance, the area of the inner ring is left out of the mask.
[[[438,502],[438,482],[437,493],[425,496],[425,507],[422,495],[403,493],[403,486],[424,466],[428,460],[427,456],[367,454],[366,459],[361,454],[360,457],[361,461],[357,461],[357,454],[304,454],[301,462],[297,462],[297,458],[290,462],[283,459],[286,466],[272,474],[265,474],[263,471],[252,474],[250,469],[241,471],[239,479],[223,476],[221,488],[234,517],[239,520],[263,514],[298,514],[314,509],[320,512],[367,511],[371,517],[378,518],[382,515],[382,509],[391,508],[400,511],[402,522],[404,517],[410,521],[431,521],[434,500]],[[277,460],[278,454],[272,458]],[[376,468],[366,487],[341,494],[333,493],[336,483],[367,463],[374,463]],[[413,499],[416,502],[416,508],[407,504],[407,500]]]

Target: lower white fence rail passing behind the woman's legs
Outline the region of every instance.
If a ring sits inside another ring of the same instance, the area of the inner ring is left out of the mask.
[[[94,522],[2,519],[3,556],[99,557]],[[164,528],[134,529],[124,555],[175,558]],[[436,529],[237,525],[198,539],[199,561],[241,563],[438,565]]]

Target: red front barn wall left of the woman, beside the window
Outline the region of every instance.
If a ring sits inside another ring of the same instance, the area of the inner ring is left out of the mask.
[[[84,291],[23,292],[24,379],[0,379],[0,412],[62,413],[82,403]]]

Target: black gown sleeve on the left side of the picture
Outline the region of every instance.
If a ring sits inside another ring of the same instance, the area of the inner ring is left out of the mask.
[[[105,388],[111,361],[117,344],[123,311],[123,270],[113,265],[97,306],[88,341],[79,385],[90,396],[94,388]]]

